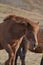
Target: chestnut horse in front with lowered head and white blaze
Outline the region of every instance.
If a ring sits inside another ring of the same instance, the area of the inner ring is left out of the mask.
[[[5,49],[9,54],[9,59],[5,62],[5,65],[14,65],[17,50],[24,37],[29,40],[31,49],[38,46],[39,25],[16,15],[9,15],[3,21],[3,23],[0,23],[0,49]]]

